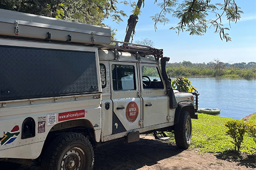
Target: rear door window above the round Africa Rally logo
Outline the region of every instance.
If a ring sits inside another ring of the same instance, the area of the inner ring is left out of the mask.
[[[133,65],[112,65],[113,90],[136,90]]]

